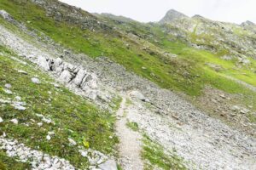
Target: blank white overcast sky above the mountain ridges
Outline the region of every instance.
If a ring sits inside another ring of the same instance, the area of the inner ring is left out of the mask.
[[[169,9],[211,20],[256,23],[256,0],[61,0],[90,13],[122,15],[141,22],[159,21]]]

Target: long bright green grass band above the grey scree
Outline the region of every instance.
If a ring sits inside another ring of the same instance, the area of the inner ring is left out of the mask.
[[[222,49],[218,54],[212,54],[205,50],[189,48],[183,42],[172,41],[172,35],[162,31],[160,26],[154,24],[139,24],[136,21],[125,21],[116,25],[115,20],[109,20],[110,26],[119,26],[122,31],[133,32],[140,40],[134,40],[127,34],[118,31],[97,29],[80,29],[79,25],[73,25],[66,21],[56,21],[45,16],[43,8],[30,3],[30,1],[3,0],[0,8],[12,14],[16,20],[26,23],[26,26],[38,31],[43,31],[55,42],[60,42],[67,48],[72,48],[78,53],[88,54],[92,58],[105,55],[113,61],[124,65],[128,71],[133,71],[141,77],[156,82],[161,88],[167,88],[184,92],[191,96],[201,95],[201,90],[206,85],[219,88],[228,93],[244,94],[244,89],[224,76],[235,77],[241,81],[256,85],[256,74],[250,67],[242,67],[236,70],[236,61],[224,61],[220,56],[226,54]],[[104,19],[107,20],[107,19]],[[211,40],[212,37],[202,37]],[[129,44],[129,47],[126,47]],[[148,45],[151,52],[143,50]],[[176,59],[170,59],[157,50],[177,54]],[[224,67],[224,71],[216,72],[209,69],[206,62],[218,64]],[[147,69],[142,69],[146,67]],[[245,73],[245,74],[242,74]],[[218,83],[224,82],[224,84]],[[232,84],[229,86],[227,84]],[[250,93],[246,93],[250,94]],[[255,94],[253,94],[255,96]]]

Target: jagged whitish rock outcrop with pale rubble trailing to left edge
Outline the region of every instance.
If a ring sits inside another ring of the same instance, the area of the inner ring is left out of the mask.
[[[3,30],[2,30],[3,31]],[[8,32],[1,38],[14,37]],[[61,58],[54,58],[49,54],[38,50],[30,44],[22,41],[18,37],[11,42],[3,41],[5,45],[9,43],[16,43],[16,50],[20,56],[25,56],[26,59],[30,59],[32,62],[39,65],[45,71],[50,71],[61,82],[66,83],[71,88],[79,88],[89,99],[96,99],[97,97],[97,77],[96,74],[84,70],[82,67],[72,65],[63,61]],[[26,48],[24,48],[26,47]],[[38,83],[35,78],[33,82]]]

